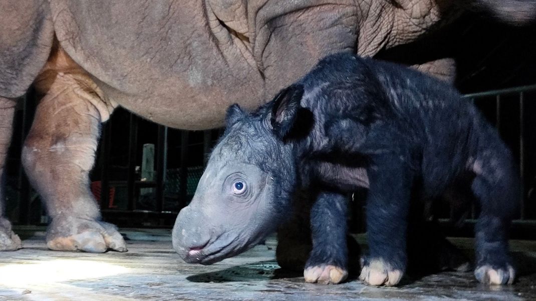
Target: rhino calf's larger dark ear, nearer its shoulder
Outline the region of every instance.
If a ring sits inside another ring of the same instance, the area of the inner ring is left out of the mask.
[[[281,90],[273,99],[270,123],[279,138],[283,139],[294,126],[302,97],[303,85],[293,84]]]

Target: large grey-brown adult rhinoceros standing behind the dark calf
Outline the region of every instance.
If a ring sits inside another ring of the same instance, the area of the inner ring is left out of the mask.
[[[258,106],[319,58],[341,50],[374,56],[411,42],[455,16],[458,4],[467,3],[4,0],[0,174],[15,99],[34,82],[42,99],[23,163],[52,218],[48,248],[126,251],[116,228],[100,221],[88,185],[100,124],[115,107],[170,127],[217,127],[228,105]],[[510,20],[534,12],[528,0],[480,4]],[[448,61],[438,65],[451,70]],[[427,70],[444,74],[438,65]],[[0,216],[0,250],[20,247]]]

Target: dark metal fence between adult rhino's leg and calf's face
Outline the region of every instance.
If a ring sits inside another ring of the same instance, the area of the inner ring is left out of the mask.
[[[205,158],[218,137],[219,130],[177,130],[152,124],[125,111],[120,114],[129,115],[128,159],[126,166],[123,166],[125,172],[120,173],[123,179],[110,179],[113,174],[110,173],[110,168],[117,167],[110,155],[111,145],[115,145],[113,136],[121,135],[113,133],[114,120],[107,122],[103,128],[97,164],[101,172],[94,176],[101,183],[103,216],[108,221],[124,226],[172,226],[178,211],[190,202],[195,192],[203,173]],[[155,144],[153,179],[145,179],[139,171],[143,157],[140,156],[140,151],[147,142],[140,140],[147,140],[147,136],[156,137],[156,141],[148,139]],[[175,159],[175,164],[170,163],[172,158]],[[123,198],[121,199],[121,194],[116,194],[116,199],[110,200],[110,189],[117,190],[117,187],[120,190],[122,187]]]

